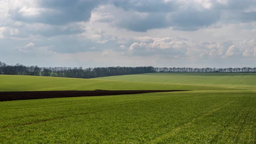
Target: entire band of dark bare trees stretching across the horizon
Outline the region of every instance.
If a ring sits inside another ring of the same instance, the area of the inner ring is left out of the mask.
[[[198,73],[254,73],[256,68],[155,68],[152,66],[141,67],[97,67],[86,68],[82,67],[38,67],[38,66],[25,66],[21,64],[7,65],[0,61],[0,75],[37,75],[37,76],[53,76],[53,77],[66,77],[66,78],[96,78],[103,76],[114,75],[132,75],[151,72],[198,72]]]

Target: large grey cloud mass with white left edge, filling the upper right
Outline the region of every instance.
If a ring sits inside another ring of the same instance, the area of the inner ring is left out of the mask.
[[[241,7],[237,7],[241,5]],[[195,31],[216,23],[255,21],[256,11],[248,11],[256,3],[245,0],[132,0],[114,1],[92,12],[93,20],[120,28],[145,32],[148,29],[173,27]]]

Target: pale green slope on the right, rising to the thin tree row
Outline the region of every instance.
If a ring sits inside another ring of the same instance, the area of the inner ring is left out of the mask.
[[[95,78],[125,82],[223,86],[255,89],[256,73],[148,73]]]

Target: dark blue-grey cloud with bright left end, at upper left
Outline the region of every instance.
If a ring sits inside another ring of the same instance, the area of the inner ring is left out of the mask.
[[[24,2],[10,9],[8,16],[28,23],[64,25],[88,21],[99,3],[100,0],[36,0],[34,4]]]

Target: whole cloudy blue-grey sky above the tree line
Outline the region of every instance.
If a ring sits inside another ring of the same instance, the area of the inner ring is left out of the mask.
[[[256,0],[0,0],[0,61],[256,67]]]

